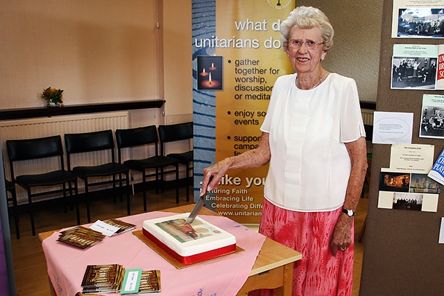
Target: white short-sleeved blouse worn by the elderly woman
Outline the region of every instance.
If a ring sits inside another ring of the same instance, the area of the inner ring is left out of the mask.
[[[293,211],[342,206],[351,171],[344,143],[365,137],[355,80],[336,73],[317,87],[296,87],[296,73],[275,82],[261,127],[269,133],[264,197]]]

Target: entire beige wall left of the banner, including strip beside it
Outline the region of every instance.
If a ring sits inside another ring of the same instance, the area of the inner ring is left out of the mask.
[[[42,107],[51,86],[65,105],[167,101],[130,127],[192,120],[191,1],[3,1],[0,36],[0,109]]]

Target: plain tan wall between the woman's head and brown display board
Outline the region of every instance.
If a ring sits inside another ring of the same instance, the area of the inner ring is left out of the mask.
[[[320,8],[335,31],[325,69],[354,78],[361,101],[376,101],[383,0],[296,0]]]

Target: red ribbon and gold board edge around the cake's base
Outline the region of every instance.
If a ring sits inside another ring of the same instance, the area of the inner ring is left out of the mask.
[[[148,232],[146,232],[146,234],[150,236],[149,238],[148,236],[144,235],[144,232],[142,230],[137,230],[133,232],[133,234],[137,236],[137,238],[139,238],[141,241],[146,243],[146,245],[151,247],[151,249],[157,252],[157,254],[160,254],[160,256],[162,256],[165,260],[167,260],[169,263],[171,263],[178,269],[186,268],[189,265],[211,261],[217,258],[221,258],[223,256],[227,256],[229,254],[234,254],[237,252],[244,251],[244,249],[238,247],[237,245],[230,245],[228,247],[222,247],[220,249],[216,249],[217,252],[210,251],[210,252],[204,252],[202,254],[196,254],[197,256],[193,255],[193,256],[183,257],[174,252],[173,250],[171,250],[169,247],[167,247],[167,245],[164,245],[164,243],[157,240],[157,238],[155,238]]]

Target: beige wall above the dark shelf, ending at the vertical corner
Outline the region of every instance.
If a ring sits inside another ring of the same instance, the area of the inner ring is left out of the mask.
[[[49,86],[66,105],[157,98],[155,1],[131,3],[3,1],[1,109],[43,106]]]

